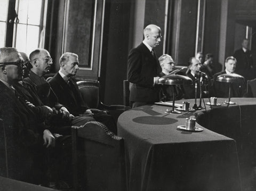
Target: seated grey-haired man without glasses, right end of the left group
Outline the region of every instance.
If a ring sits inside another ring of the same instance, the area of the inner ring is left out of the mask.
[[[49,81],[54,93],[60,103],[65,104],[68,110],[75,115],[90,115],[96,121],[105,124],[111,132],[117,134],[114,118],[106,112],[90,109],[84,102],[78,86],[73,79],[78,67],[78,55],[74,53],[64,53],[60,57],[60,70]]]

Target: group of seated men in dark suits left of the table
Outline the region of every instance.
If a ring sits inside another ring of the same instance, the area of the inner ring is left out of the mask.
[[[70,187],[71,126],[96,120],[117,133],[113,117],[90,109],[82,99],[72,78],[78,64],[76,54],[64,53],[59,72],[47,82],[43,77],[52,65],[48,51],[36,49],[28,58],[16,48],[0,48],[0,118],[7,129],[10,178],[45,186],[53,181],[57,188],[66,182]],[[30,71],[22,80],[26,65]]]

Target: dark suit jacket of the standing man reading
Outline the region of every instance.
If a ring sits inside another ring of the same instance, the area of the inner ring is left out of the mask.
[[[159,87],[153,86],[154,77],[161,72],[157,56],[145,44],[133,48],[128,56],[130,101],[154,103],[159,101]]]

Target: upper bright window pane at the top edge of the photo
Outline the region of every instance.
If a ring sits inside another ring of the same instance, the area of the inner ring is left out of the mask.
[[[19,20],[20,23],[40,24],[42,0],[20,0]],[[27,21],[28,16],[28,21]]]

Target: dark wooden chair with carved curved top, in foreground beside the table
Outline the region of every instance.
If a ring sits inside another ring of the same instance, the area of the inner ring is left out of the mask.
[[[124,141],[97,121],[72,126],[75,190],[126,190]]]

